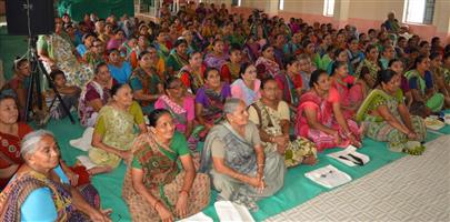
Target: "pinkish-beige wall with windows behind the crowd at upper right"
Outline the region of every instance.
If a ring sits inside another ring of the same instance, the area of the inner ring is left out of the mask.
[[[231,0],[210,0],[214,3],[231,4]],[[246,17],[254,8],[262,9],[270,16],[302,18],[312,23],[330,22],[338,28],[350,23],[366,32],[370,28],[379,28],[388,12],[394,11],[402,21],[404,0],[336,0],[334,16],[324,17],[323,0],[284,0],[284,10],[278,10],[279,0],[242,0],[241,7],[231,8],[231,12],[243,13]],[[450,43],[450,0],[436,0],[432,24],[408,24],[421,38],[431,39],[438,36],[444,43]],[[447,41],[447,42],[446,42]]]

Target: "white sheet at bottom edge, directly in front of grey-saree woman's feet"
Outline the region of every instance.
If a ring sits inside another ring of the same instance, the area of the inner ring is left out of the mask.
[[[254,222],[249,210],[230,201],[214,203],[217,215],[221,222]]]

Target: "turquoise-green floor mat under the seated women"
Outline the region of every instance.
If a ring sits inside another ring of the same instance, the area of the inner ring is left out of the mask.
[[[47,125],[47,129],[52,131],[58,138],[62,158],[68,162],[69,165],[74,163],[76,157],[86,154],[80,150],[71,148],[71,145],[69,144],[70,140],[81,137],[83,132],[83,128],[81,128],[78,122],[72,125],[68,118],[60,121],[50,121]],[[439,132],[450,134],[450,127],[446,125]],[[438,137],[439,135],[436,133],[428,133],[427,141],[433,140]],[[322,192],[330,191],[329,189],[316,184],[307,179],[304,176],[306,172],[324,167],[327,164],[332,164],[339,170],[348,173],[353,180],[356,180],[404,157],[404,154],[402,153],[390,152],[386,143],[376,142],[370,139],[364,139],[363,145],[364,147],[361,148],[359,152],[368,154],[371,159],[370,162],[364,167],[350,168],[343,165],[339,161],[326,157],[326,154],[328,153],[340,150],[330,149],[319,154],[319,162],[316,165],[300,165],[290,169],[286,175],[284,188],[276,195],[258,202],[260,210],[257,212],[252,212],[254,220],[262,221],[269,216],[300,205]],[[102,208],[110,208],[113,210],[111,215],[113,221],[131,221],[130,214],[128,212],[128,206],[121,199],[124,171],[126,165],[122,163],[113,172],[97,175],[92,179],[93,185],[100,192]],[[216,200],[216,192],[213,192],[213,195],[211,196],[211,204],[203,212],[214,219],[214,221],[219,221],[213,206],[213,200]]]

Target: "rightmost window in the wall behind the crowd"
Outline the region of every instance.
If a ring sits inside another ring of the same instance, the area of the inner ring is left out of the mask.
[[[433,21],[436,0],[406,0],[403,22],[430,24]]]

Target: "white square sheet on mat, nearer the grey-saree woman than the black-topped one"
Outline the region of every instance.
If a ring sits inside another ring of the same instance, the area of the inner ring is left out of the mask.
[[[320,185],[332,189],[351,181],[351,176],[338,170],[332,165],[326,165],[311,172],[304,173],[304,176]]]

